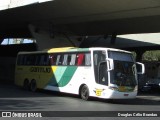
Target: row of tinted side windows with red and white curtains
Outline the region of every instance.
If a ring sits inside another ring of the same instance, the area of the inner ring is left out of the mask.
[[[90,66],[90,53],[60,53],[60,54],[24,54],[19,55],[17,65],[61,65],[61,66]]]

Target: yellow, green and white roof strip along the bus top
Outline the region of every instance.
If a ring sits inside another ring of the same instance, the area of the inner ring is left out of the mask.
[[[57,53],[57,52],[76,52],[76,51],[90,51],[90,50],[111,50],[131,53],[129,51],[115,49],[115,48],[105,48],[105,47],[90,47],[90,48],[77,48],[77,47],[60,47],[60,48],[51,48],[45,49],[42,51],[20,51],[18,54],[38,54],[38,53]]]

